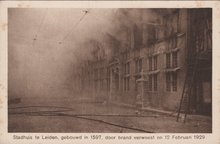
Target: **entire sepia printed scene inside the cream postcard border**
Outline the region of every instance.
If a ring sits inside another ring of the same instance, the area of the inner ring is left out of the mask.
[[[213,132],[212,8],[8,8],[8,133]]]

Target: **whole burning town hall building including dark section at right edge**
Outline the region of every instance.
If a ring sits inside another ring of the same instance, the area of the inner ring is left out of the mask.
[[[120,10],[126,17],[130,9]],[[105,42],[89,41],[91,58],[75,67],[75,91],[108,102],[212,113],[212,10],[140,10]],[[127,17],[127,19],[129,19]],[[107,51],[107,52],[106,52]]]

